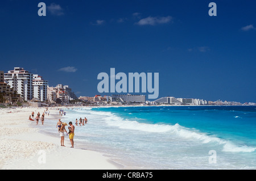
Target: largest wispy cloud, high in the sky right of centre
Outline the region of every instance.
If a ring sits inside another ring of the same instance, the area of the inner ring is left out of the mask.
[[[151,25],[155,26],[156,24],[166,24],[172,21],[172,16],[166,16],[166,17],[151,17],[148,16],[147,18],[139,20],[138,25],[144,26],[144,25]]]

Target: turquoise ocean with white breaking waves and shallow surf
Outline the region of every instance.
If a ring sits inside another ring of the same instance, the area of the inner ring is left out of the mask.
[[[66,123],[88,119],[75,129],[75,147],[100,151],[125,169],[256,169],[255,106],[98,107],[65,112]],[[58,136],[56,123],[46,120],[43,131]]]

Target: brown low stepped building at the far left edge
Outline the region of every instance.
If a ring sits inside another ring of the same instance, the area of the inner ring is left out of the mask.
[[[4,72],[0,71],[0,103],[22,102],[22,98],[5,83]]]

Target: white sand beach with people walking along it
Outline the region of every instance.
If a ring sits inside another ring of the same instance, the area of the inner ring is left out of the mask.
[[[41,115],[45,108],[4,108],[0,110],[0,169],[1,170],[113,170],[122,169],[102,153],[70,148],[68,137],[60,146],[60,137],[48,136],[31,127],[31,112]],[[51,115],[59,111],[50,110]],[[49,116],[53,119],[53,116]],[[57,120],[57,117],[55,117]],[[48,119],[48,117],[46,117]],[[39,122],[40,124],[40,122]],[[42,126],[38,125],[38,126]]]

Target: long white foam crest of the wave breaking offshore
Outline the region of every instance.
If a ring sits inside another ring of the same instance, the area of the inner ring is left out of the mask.
[[[175,125],[169,124],[147,124],[147,123],[139,123],[135,120],[127,120],[114,115],[110,112],[96,112],[100,115],[108,115],[104,117],[106,123],[113,127],[118,127],[120,129],[130,129],[136,131],[143,132],[151,132],[151,133],[170,133],[172,136],[177,136],[182,139],[187,140],[197,140],[202,142],[203,144],[213,143],[217,145],[223,145],[222,151],[224,152],[246,152],[250,153],[255,151],[256,148],[252,148],[250,146],[237,146],[230,141],[226,141],[224,139],[209,136],[207,133],[201,133],[196,129],[189,129],[182,127],[178,123]]]

